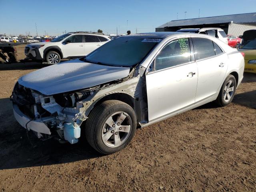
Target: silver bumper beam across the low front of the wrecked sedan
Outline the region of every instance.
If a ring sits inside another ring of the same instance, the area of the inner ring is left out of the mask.
[[[13,104],[13,114],[18,123],[28,130],[33,130],[37,133],[42,134],[51,134],[50,129],[44,124],[43,121],[45,121],[45,118],[40,118],[37,120],[31,120],[28,118],[25,114],[23,114],[20,109],[18,108],[18,105]],[[49,119],[50,120],[50,119]],[[47,120],[46,120],[47,121]],[[27,124],[27,126],[26,126]]]

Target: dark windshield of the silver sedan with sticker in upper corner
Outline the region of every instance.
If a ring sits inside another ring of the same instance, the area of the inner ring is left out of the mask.
[[[85,62],[110,66],[134,66],[142,62],[161,39],[121,37],[104,44],[85,58]]]

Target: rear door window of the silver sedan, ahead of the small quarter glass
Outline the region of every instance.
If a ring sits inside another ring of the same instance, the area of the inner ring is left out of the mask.
[[[212,40],[206,38],[192,38],[196,60],[215,56]]]

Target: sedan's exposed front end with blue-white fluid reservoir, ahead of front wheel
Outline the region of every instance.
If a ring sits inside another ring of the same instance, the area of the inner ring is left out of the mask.
[[[74,144],[80,137],[80,126],[73,119],[82,107],[76,101],[90,95],[91,91],[84,91],[46,96],[17,83],[12,92],[14,116],[38,138],[57,138]]]

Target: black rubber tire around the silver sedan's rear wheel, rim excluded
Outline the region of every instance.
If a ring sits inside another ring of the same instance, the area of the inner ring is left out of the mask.
[[[232,92],[232,96],[230,96],[230,99],[228,100],[224,100],[224,97],[225,97],[225,93],[226,93],[226,85],[228,84],[228,82],[232,81],[233,82],[233,86],[234,86],[234,91]],[[228,105],[229,103],[232,102],[234,96],[235,96],[235,93],[236,93],[236,78],[233,76],[233,75],[228,75],[226,80],[224,81],[224,83],[222,84],[222,87],[220,89],[220,92],[219,92],[219,95],[216,99],[216,102],[219,106],[226,106]]]

